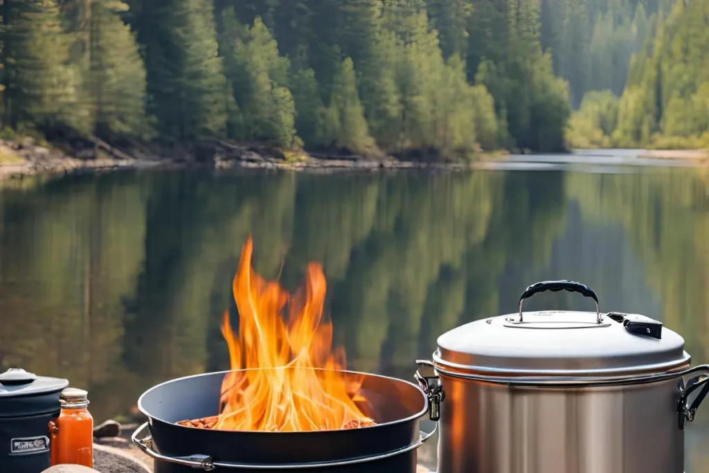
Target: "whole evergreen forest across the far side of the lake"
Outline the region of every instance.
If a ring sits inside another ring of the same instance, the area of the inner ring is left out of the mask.
[[[469,157],[709,146],[709,0],[2,0],[3,133]]]

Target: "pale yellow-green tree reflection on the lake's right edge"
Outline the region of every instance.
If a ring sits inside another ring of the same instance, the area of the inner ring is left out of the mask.
[[[709,361],[709,193],[698,172],[579,174],[571,195],[595,221],[623,223],[664,323],[696,361]]]

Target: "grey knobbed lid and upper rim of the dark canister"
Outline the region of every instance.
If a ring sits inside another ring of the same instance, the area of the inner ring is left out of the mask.
[[[10,368],[0,374],[0,417],[38,416],[60,410],[66,379],[49,378]]]

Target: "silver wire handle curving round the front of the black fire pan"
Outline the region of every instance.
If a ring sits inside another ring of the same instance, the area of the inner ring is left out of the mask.
[[[357,464],[365,462],[373,462],[374,460],[384,460],[384,458],[394,457],[402,453],[410,452],[423,445],[437,430],[438,424],[429,433],[420,432],[420,438],[415,443],[406,447],[391,450],[390,452],[380,453],[378,455],[370,455],[368,457],[356,457],[349,460],[336,460],[333,462],[310,462],[310,463],[286,463],[286,464],[262,464],[262,463],[235,463],[235,462],[218,462],[208,455],[187,455],[186,457],[168,457],[161,455],[155,451],[155,445],[152,441],[152,436],[148,435],[145,438],[138,438],[140,433],[147,428],[148,423],[140,425],[138,429],[130,436],[130,440],[138,445],[138,448],[146,455],[174,464],[180,464],[184,467],[199,468],[205,472],[211,472],[216,468],[232,468],[232,469],[303,469],[303,468],[327,468],[340,467],[348,464]]]

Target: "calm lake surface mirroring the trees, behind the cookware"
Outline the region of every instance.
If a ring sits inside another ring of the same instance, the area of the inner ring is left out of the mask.
[[[120,172],[0,184],[0,369],[66,377],[96,421],[228,368],[220,319],[243,243],[295,289],[321,262],[349,367],[412,379],[436,338],[576,279],[709,362],[709,179],[691,168],[391,174]],[[578,294],[525,305],[580,308]],[[687,473],[709,473],[709,403]]]

